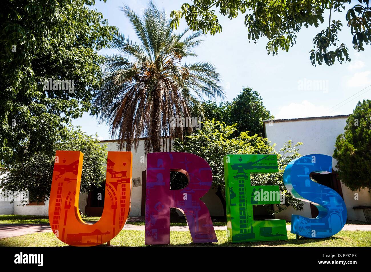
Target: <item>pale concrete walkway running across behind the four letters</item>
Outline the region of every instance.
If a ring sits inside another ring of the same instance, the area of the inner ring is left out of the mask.
[[[95,221],[89,223],[96,223]],[[130,225],[130,222],[122,228],[123,230],[144,231],[144,225]],[[215,230],[225,231],[227,226],[214,226]],[[291,225],[286,225],[286,229],[290,231]],[[347,224],[342,229],[343,231],[371,231],[371,225],[351,225]],[[49,224],[0,224],[0,239],[25,235],[35,232],[51,232]],[[188,226],[170,226],[170,231],[188,231]]]

